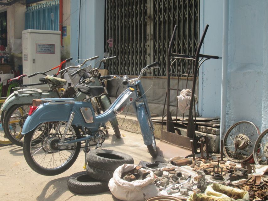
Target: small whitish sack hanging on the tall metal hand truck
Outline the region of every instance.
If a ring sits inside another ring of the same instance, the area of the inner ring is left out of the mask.
[[[192,90],[183,89],[178,98],[178,108],[182,113],[185,113],[189,110],[190,100],[191,100]],[[197,101],[197,96],[194,95],[194,103]]]

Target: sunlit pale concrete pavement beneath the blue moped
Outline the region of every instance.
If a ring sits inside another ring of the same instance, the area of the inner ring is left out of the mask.
[[[112,149],[131,155],[134,163],[145,161],[166,161],[162,157],[153,160],[146,146],[143,144],[142,136],[121,130],[125,137],[117,139],[110,129],[110,138],[105,140],[102,149]],[[156,140],[158,143],[159,140]],[[74,165],[57,176],[43,176],[33,171],[26,163],[22,147],[15,145],[0,147],[0,181],[1,200],[61,200],[61,201],[95,201],[105,200],[117,201],[110,192],[94,195],[77,195],[68,190],[67,178],[71,174],[83,171],[84,152],[81,149],[79,157]]]

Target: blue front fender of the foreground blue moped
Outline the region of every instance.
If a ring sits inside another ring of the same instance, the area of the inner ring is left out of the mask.
[[[142,134],[142,138],[145,145],[152,144],[152,134],[153,130],[150,129],[149,116],[145,110],[144,103],[140,103],[137,106],[137,119],[139,121],[139,126]]]

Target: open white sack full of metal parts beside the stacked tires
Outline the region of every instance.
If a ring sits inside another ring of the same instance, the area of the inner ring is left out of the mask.
[[[154,173],[150,170],[141,168],[150,173],[151,177],[144,180],[127,182],[121,179],[123,172],[133,170],[136,165],[124,164],[119,166],[113,173],[109,181],[109,189],[114,197],[123,201],[144,201],[154,196],[160,196],[160,192],[154,184]]]

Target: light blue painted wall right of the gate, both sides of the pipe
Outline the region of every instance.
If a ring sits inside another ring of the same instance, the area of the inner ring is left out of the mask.
[[[223,2],[200,4],[200,32],[209,24],[203,53],[222,55]],[[248,120],[268,128],[268,1],[229,1],[226,128]],[[219,116],[221,61],[206,62],[199,76],[199,112]]]

